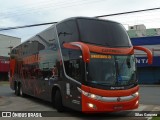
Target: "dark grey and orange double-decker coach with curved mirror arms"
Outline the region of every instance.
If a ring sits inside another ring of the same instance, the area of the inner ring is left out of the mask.
[[[52,102],[58,111],[136,109],[139,86],[134,50],[117,22],[75,17],[63,20],[15,47],[10,57],[10,86]]]

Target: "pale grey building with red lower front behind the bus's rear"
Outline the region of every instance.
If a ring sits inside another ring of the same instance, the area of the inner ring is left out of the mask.
[[[8,80],[9,53],[21,43],[21,38],[0,34],[0,81]]]

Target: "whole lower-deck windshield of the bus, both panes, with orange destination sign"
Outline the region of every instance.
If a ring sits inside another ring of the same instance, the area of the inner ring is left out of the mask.
[[[107,86],[131,85],[136,82],[135,57],[91,54],[86,73],[89,83]]]

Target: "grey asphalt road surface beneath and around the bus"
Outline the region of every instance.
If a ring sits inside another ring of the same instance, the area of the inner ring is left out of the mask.
[[[160,86],[140,86],[140,106],[134,111],[160,111]],[[86,118],[80,116],[74,116],[74,111],[67,113],[58,113],[50,103],[33,98],[33,97],[17,97],[14,91],[10,89],[9,84],[0,83],[0,111],[53,111],[56,120],[97,120],[97,117]],[[101,120],[106,120],[110,116],[109,120],[123,119],[123,120],[149,120],[149,117],[127,117],[129,112],[118,112],[111,114],[103,114],[100,116]],[[64,117],[64,116],[67,116]],[[112,117],[111,117],[112,116]],[[113,117],[114,116],[114,117]],[[119,117],[121,116],[121,117]],[[132,115],[131,115],[132,116]],[[91,116],[90,116],[91,117]],[[23,118],[25,120],[27,118]],[[32,119],[32,118],[31,118]],[[41,120],[44,118],[34,118],[33,120]],[[49,120],[53,118],[45,118]],[[159,118],[160,119],[160,118]],[[0,118],[0,120],[6,120]],[[17,120],[17,118],[13,118]],[[158,119],[156,119],[158,120]]]

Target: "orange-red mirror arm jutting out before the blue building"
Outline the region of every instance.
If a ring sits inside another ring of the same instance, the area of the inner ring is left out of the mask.
[[[152,52],[148,48],[141,47],[141,46],[134,46],[133,48],[136,49],[136,50],[141,50],[141,51],[146,52],[147,53],[147,57],[148,57],[148,64],[152,64],[153,55],[152,55]]]

